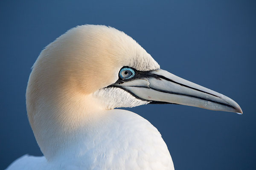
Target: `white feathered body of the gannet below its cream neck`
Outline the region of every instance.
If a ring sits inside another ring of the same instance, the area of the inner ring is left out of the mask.
[[[107,110],[103,115],[85,134],[74,136],[79,143],[73,143],[57,160],[48,163],[44,156],[23,156],[9,170],[20,167],[23,170],[39,167],[38,170],[174,169],[165,142],[150,122],[136,113],[119,109]],[[73,157],[69,156],[70,150],[76,153]]]

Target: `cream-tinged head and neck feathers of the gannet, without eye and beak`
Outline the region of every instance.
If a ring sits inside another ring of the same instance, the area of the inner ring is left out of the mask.
[[[113,108],[117,98],[106,101],[102,96],[101,100],[99,95],[108,92],[96,91],[115,83],[124,66],[139,71],[160,68],[135,40],[107,26],[77,26],[41,51],[29,77],[26,105],[29,122],[46,157],[44,145],[50,140],[47,134],[58,131],[58,126],[67,131],[76,129],[84,115],[90,119],[94,110]],[[122,89],[111,89],[124,99],[133,100],[132,106],[148,103]],[[131,107],[131,102],[120,107]]]

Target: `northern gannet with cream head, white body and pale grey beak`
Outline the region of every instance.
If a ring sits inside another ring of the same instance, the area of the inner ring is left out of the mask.
[[[22,156],[8,170],[174,170],[158,130],[114,108],[175,103],[242,113],[232,99],[160,69],[115,28],[77,26],[47,45],[26,90],[42,157]]]

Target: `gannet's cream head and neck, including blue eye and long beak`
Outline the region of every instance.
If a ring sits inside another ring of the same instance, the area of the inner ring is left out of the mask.
[[[45,141],[52,142],[47,134],[76,129],[84,115],[149,103],[242,113],[227,96],[160,69],[135,40],[107,26],[78,26],[47,45],[26,91],[29,122],[43,152]]]

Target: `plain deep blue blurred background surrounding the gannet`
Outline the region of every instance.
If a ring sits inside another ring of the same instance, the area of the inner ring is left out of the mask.
[[[176,170],[256,169],[256,3],[253,0],[0,1],[0,169],[41,156],[25,91],[40,51],[83,24],[115,27],[177,76],[234,99],[244,115],[181,105],[128,110],[163,136]]]

